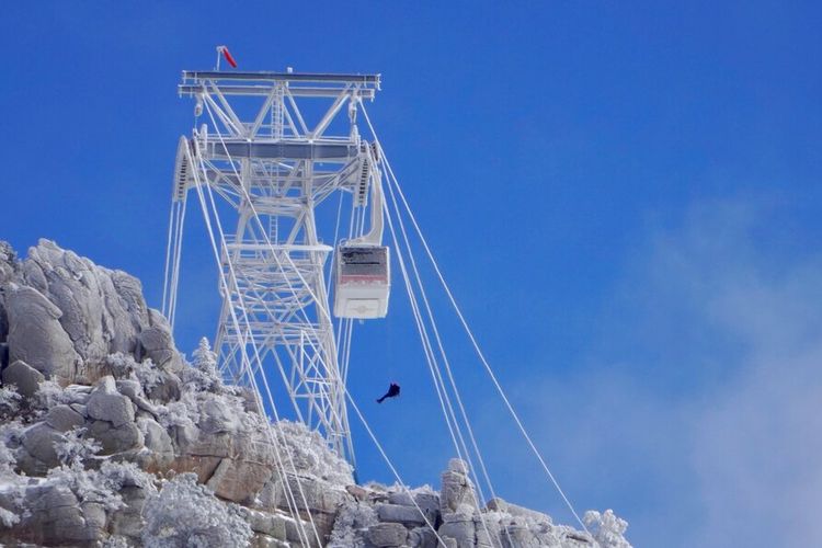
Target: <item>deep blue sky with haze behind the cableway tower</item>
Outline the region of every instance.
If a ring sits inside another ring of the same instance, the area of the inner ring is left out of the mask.
[[[820,544],[821,24],[811,2],[11,3],[0,238],[126,270],[159,307],[180,71],[228,44],[252,70],[380,72],[384,146],[575,504],[636,546]],[[201,236],[189,352],[213,332]],[[366,413],[437,483],[407,308],[357,328],[352,392],[399,379]],[[443,321],[496,491],[570,523]],[[361,475],[389,480],[355,434]]]

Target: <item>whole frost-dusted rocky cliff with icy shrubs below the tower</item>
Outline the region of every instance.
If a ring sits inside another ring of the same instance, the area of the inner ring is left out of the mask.
[[[0,242],[0,544],[629,547],[610,511],[586,513],[591,535],[478,511],[457,459],[439,491],[356,486],[318,434],[226,386],[205,340],[193,356],[135,277]]]

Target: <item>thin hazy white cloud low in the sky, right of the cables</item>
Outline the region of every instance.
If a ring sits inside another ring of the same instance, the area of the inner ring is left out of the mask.
[[[586,365],[517,391],[560,480],[637,546],[822,546],[822,249],[796,252],[788,209],[658,229]]]

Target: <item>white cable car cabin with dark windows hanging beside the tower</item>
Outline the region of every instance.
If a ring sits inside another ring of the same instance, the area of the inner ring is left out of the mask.
[[[385,318],[390,288],[387,247],[351,244],[338,248],[334,316]]]

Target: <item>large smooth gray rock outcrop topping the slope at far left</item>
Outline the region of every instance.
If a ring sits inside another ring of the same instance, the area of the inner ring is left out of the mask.
[[[18,263],[0,249],[0,343],[61,384],[92,383],[109,354],[151,359],[170,372],[183,361],[165,319],[149,310],[137,278],[98,266],[48,240]]]

